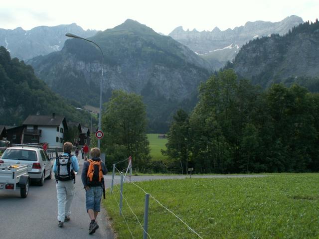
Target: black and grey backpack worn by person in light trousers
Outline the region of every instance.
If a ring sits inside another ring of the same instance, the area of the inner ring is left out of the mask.
[[[69,181],[74,180],[75,183],[75,173],[73,170],[71,170],[71,164],[72,164],[72,154],[68,155],[58,155],[58,153],[55,153],[56,155],[56,174],[55,174],[55,180],[56,183],[58,181]]]

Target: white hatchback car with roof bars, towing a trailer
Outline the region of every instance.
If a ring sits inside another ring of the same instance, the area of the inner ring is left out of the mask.
[[[0,163],[26,164],[30,179],[40,186],[43,186],[45,178],[52,178],[51,160],[41,147],[9,147],[3,152]]]

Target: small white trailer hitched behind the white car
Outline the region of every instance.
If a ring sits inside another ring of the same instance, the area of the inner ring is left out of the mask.
[[[0,190],[12,191],[20,188],[21,198],[29,193],[29,175],[27,165],[0,163]]]

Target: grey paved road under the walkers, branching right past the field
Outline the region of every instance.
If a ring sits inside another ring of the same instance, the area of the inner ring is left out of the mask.
[[[83,160],[80,161],[80,172]],[[75,196],[71,207],[71,221],[64,228],[57,226],[57,200],[55,180],[45,180],[44,186],[31,185],[27,198],[20,198],[19,191],[13,193],[0,192],[0,239],[114,239],[102,209],[98,217],[100,228],[94,235],[88,235],[89,217],[85,209],[85,192],[80,175],[77,175]],[[219,177],[260,177],[253,175],[192,175],[193,178]],[[183,175],[172,176],[132,176],[132,181],[158,179],[184,179]],[[112,175],[105,176],[106,187],[111,186]],[[120,182],[120,176],[115,176],[115,183]],[[109,195],[106,195],[107,199]]]

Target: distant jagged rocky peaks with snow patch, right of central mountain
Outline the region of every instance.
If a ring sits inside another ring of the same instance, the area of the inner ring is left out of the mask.
[[[244,26],[235,27],[233,30],[228,28],[225,31],[218,27],[212,31],[184,31],[179,26],[169,33],[169,36],[218,66],[218,69],[227,61],[233,60],[242,45],[250,40],[271,34],[284,35],[301,23],[304,23],[301,17],[292,15],[279,22],[248,21]]]

